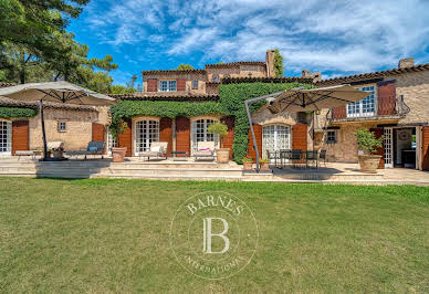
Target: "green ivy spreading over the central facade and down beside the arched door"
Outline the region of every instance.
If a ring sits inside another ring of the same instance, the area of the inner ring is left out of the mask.
[[[219,114],[234,116],[233,157],[238,164],[248,154],[249,122],[244,101],[310,84],[302,83],[238,83],[219,85],[219,102],[168,102],[168,101],[119,101],[112,107],[117,118],[130,118],[139,115],[175,118],[177,116],[195,117]],[[264,101],[253,103],[251,112],[257,112],[265,104]]]

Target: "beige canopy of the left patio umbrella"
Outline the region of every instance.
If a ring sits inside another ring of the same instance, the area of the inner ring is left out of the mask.
[[[29,83],[0,88],[0,96],[25,102],[56,102],[77,105],[106,106],[116,99],[69,82]]]

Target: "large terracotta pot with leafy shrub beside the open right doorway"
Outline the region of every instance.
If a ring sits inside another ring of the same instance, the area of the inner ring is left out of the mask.
[[[381,156],[374,155],[374,153],[377,150],[377,147],[383,146],[383,136],[377,139],[374,132],[369,132],[367,128],[359,128],[356,130],[355,136],[357,146],[363,151],[363,155],[358,155],[360,170],[363,172],[376,174]]]

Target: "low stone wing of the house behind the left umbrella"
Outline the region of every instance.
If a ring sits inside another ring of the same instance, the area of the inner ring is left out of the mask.
[[[0,86],[12,84],[0,83]],[[14,155],[17,150],[42,149],[38,107],[36,103],[0,97],[0,156]],[[30,115],[20,116],[22,109],[30,109]],[[48,141],[61,140],[65,150],[80,150],[85,149],[91,140],[105,140],[108,107],[45,103],[44,119]]]

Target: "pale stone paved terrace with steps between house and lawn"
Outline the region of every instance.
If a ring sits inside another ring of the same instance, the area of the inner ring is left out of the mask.
[[[327,162],[318,169],[273,168],[272,172],[243,172],[236,162],[150,160],[127,158],[112,162],[111,158],[71,159],[40,162],[30,157],[0,157],[0,176],[59,177],[59,178],[127,178],[160,180],[232,180],[323,182],[356,185],[421,185],[429,186],[429,172],[414,169],[381,169],[364,174],[357,164]]]

